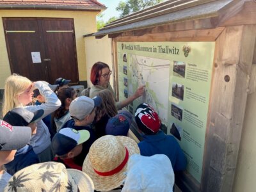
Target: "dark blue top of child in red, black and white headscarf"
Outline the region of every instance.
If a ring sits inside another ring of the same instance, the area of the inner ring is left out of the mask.
[[[186,169],[186,157],[173,136],[159,131],[154,135],[143,135],[143,138],[144,140],[138,144],[141,156],[164,154],[169,157],[174,172]]]

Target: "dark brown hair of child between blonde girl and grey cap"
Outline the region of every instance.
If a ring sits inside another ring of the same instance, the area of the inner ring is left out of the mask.
[[[73,98],[75,94],[76,90],[70,86],[63,86],[58,90],[57,97],[61,101],[61,106],[52,115],[52,129],[54,131],[56,131],[54,118],[59,119],[67,113],[68,109],[65,108],[65,101],[67,98]]]

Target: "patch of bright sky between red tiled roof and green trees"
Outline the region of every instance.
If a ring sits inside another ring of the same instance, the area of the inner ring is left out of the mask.
[[[102,17],[102,20],[104,20],[104,22],[107,22],[111,17],[114,17],[114,16],[119,17],[120,12],[116,11],[116,6],[122,0],[97,0],[97,1],[99,1],[102,4],[105,4],[105,6],[107,7],[107,9],[104,10],[104,12],[102,12],[102,14],[104,14],[104,16]]]

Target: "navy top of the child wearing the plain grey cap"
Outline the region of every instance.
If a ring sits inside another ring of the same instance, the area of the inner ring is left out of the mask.
[[[63,125],[62,128],[66,128],[66,127],[76,129],[77,131],[87,130],[90,132],[89,140],[87,140],[83,143],[83,150],[82,150],[81,154],[74,157],[74,162],[76,164],[78,164],[79,166],[83,166],[84,159],[85,159],[86,155],[88,154],[92,143],[96,140],[95,132],[93,131],[92,127],[90,127],[90,126],[76,126],[75,121],[73,119],[68,120],[66,122],[66,124]]]

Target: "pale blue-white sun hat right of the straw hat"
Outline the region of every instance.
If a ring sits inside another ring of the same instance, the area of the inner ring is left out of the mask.
[[[170,159],[163,154],[150,157],[134,154],[129,158],[122,192],[172,191],[174,173]]]

